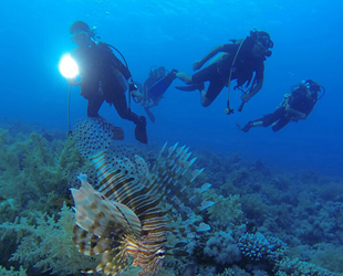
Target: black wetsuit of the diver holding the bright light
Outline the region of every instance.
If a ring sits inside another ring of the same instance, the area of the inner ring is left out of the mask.
[[[127,108],[125,91],[132,75],[107,44],[77,47],[72,52],[81,73],[81,95],[89,100],[87,116],[97,117],[103,102],[113,104],[118,115],[138,123],[138,116]]]

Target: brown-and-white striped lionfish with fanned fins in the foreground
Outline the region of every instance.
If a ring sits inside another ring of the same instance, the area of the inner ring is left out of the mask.
[[[165,145],[150,170],[139,156],[134,160],[117,158],[111,166],[105,155],[101,151],[90,157],[97,184],[93,188],[80,176],[81,188],[71,189],[76,219],[73,242],[85,255],[102,254],[95,270],[104,275],[118,275],[128,265],[127,256],[133,266],[142,268],[138,276],[156,275],[166,255],[168,233],[191,237],[210,230],[202,222],[188,226],[185,221],[189,216],[185,204],[210,184],[195,189],[188,199],[183,197],[202,169],[190,170],[196,158],[188,160],[191,152],[177,145],[168,150]],[[202,201],[196,211],[212,204]],[[184,220],[178,227],[172,226],[177,221],[175,211]]]

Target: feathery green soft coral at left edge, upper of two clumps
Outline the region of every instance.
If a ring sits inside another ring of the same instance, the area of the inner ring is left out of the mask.
[[[13,199],[22,209],[30,201],[44,199],[51,191],[66,193],[70,173],[84,162],[72,139],[49,142],[34,132],[30,137],[13,138],[6,130],[0,131],[1,195]],[[53,201],[45,201],[44,205]],[[40,210],[40,205],[35,209]]]

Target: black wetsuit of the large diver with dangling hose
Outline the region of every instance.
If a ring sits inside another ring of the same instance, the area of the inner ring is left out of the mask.
[[[202,83],[209,81],[209,87],[206,93],[206,97],[209,100],[214,100],[221,89],[228,84],[228,78],[230,75],[230,70],[232,67],[232,62],[236,56],[236,53],[239,49],[240,43],[235,44],[225,44],[224,52],[225,56],[218,62],[212,63],[211,65],[205,67],[204,70],[195,73],[191,76],[191,82],[194,84]],[[254,57],[251,53],[251,50],[254,45],[254,40],[248,36],[238,55],[232,67],[231,81],[237,79],[237,87],[242,86],[247,83],[247,86],[251,83],[253,77],[252,85],[259,81],[263,81],[264,72],[264,56]]]

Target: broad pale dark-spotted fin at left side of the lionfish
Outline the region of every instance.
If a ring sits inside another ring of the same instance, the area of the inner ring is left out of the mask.
[[[141,236],[142,225],[126,205],[110,201],[84,179],[79,190],[72,190],[75,201],[74,243],[85,255],[103,254],[96,270],[116,275],[127,266],[125,240]]]

